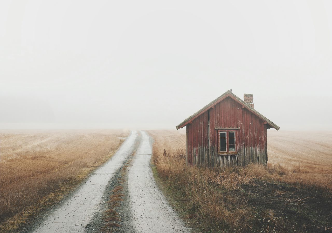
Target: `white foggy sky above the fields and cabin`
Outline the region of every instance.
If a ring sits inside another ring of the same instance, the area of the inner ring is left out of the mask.
[[[0,129],[175,129],[233,89],[332,130],[331,31],[331,1],[2,1]]]

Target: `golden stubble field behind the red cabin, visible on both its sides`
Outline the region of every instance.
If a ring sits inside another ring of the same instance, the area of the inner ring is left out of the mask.
[[[155,139],[155,154],[163,154],[166,149],[167,154],[174,158],[181,154],[185,158],[185,132],[153,130],[149,133]],[[268,155],[268,169],[262,170],[259,166],[251,166],[256,176],[299,184],[307,188],[332,190],[332,132],[270,131]],[[164,166],[173,167],[174,163],[184,161],[171,160]]]

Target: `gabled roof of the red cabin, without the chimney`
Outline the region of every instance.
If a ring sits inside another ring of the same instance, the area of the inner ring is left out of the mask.
[[[225,93],[223,93],[222,95],[220,95],[218,98],[216,98],[215,100],[211,101],[208,105],[206,105],[204,108],[202,108],[201,110],[199,110],[198,112],[194,113],[193,115],[191,115],[190,117],[188,117],[187,119],[185,119],[183,122],[181,122],[179,125],[176,126],[176,129],[181,129],[183,127],[185,127],[187,124],[189,124],[192,120],[194,120],[196,117],[202,115],[204,112],[206,112],[208,109],[212,108],[212,106],[216,105],[217,103],[221,102],[222,100],[224,100],[227,97],[232,98],[233,100],[235,100],[236,102],[238,102],[239,104],[242,104],[242,106],[244,106],[246,109],[248,109],[250,112],[252,112],[253,114],[255,114],[256,116],[258,116],[259,118],[261,118],[263,121],[266,121],[266,123],[270,126],[270,128],[275,128],[276,130],[279,130],[280,127],[278,125],[276,125],[275,123],[273,123],[272,121],[270,121],[269,119],[267,119],[265,116],[263,116],[262,114],[260,114],[259,112],[257,112],[254,108],[252,108],[249,104],[247,104],[246,102],[244,102],[242,99],[240,99],[239,97],[237,97],[235,94],[232,93],[232,89],[226,91]]]

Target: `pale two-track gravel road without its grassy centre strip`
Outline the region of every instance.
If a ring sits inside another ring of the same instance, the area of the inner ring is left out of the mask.
[[[189,232],[155,183],[150,166],[151,138],[144,131],[132,132],[111,160],[55,207],[32,232],[99,232],[111,187],[116,185],[116,176],[136,149],[126,175],[124,204],[118,210],[122,227],[116,232]]]

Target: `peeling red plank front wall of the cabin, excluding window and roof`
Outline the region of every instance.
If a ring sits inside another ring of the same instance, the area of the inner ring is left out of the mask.
[[[217,130],[239,128],[236,155],[218,155]],[[267,125],[230,97],[217,103],[187,125],[188,165],[205,167],[245,166],[249,163],[267,164]]]

